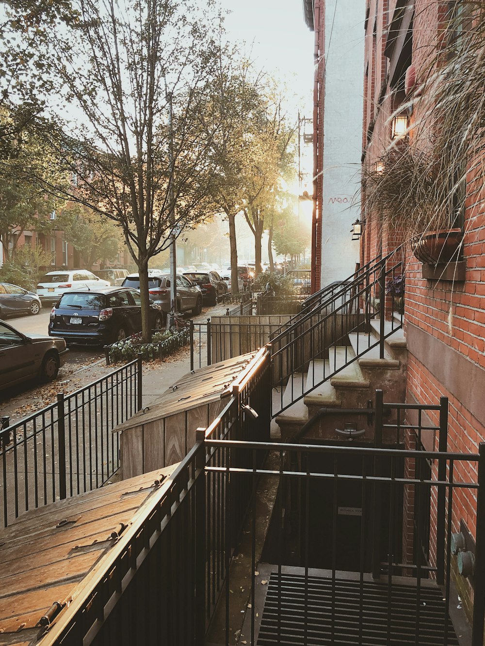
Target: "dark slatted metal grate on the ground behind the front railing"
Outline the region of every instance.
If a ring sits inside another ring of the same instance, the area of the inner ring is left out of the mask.
[[[442,591],[431,582],[389,589],[387,582],[308,576],[305,584],[305,576],[283,573],[268,581],[257,640],[257,646],[444,643],[459,642]]]

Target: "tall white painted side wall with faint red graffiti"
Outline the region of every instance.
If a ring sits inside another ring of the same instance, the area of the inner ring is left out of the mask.
[[[350,229],[360,218],[364,21],[362,0],[325,1],[321,287],[347,278],[359,258]]]

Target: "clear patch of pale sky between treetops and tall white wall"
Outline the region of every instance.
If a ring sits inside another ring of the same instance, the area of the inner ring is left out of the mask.
[[[230,10],[230,39],[245,41],[257,67],[286,81],[299,100],[295,110],[310,115],[314,34],[303,19],[301,0],[220,0]]]

